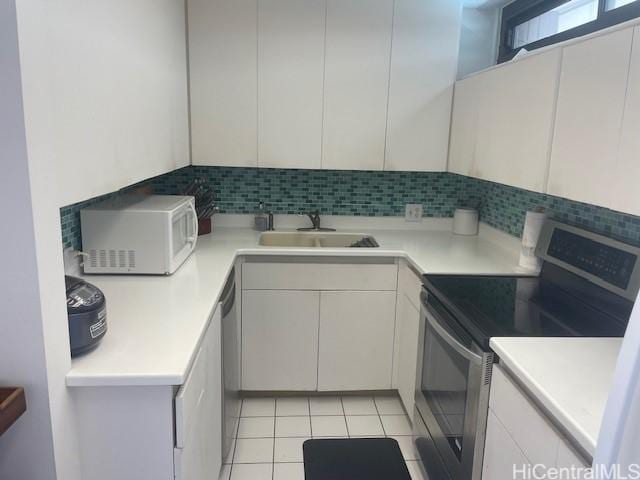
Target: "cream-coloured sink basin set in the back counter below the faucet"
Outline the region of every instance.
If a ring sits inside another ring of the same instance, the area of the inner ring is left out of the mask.
[[[265,232],[260,235],[263,247],[350,248],[378,247],[375,238],[361,233]]]

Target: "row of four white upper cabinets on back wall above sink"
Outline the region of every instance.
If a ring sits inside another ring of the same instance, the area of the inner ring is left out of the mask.
[[[194,165],[446,169],[459,0],[188,0],[188,12]]]

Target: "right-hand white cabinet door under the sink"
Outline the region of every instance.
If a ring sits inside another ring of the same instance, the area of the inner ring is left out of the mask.
[[[391,388],[395,292],[322,292],[318,390]]]

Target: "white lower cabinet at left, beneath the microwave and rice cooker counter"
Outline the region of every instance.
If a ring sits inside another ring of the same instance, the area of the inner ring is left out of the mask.
[[[187,379],[179,388],[132,385],[70,389],[82,478],[218,478],[222,466],[220,321],[217,308]]]

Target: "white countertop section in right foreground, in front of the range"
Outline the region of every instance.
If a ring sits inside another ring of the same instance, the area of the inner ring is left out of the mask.
[[[492,338],[521,385],[593,456],[621,338]]]

